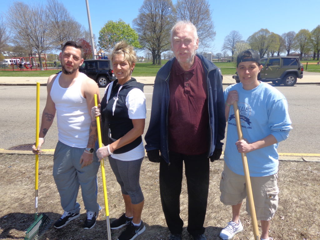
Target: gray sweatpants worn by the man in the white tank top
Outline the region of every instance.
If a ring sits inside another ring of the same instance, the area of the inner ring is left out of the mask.
[[[54,151],[53,179],[60,194],[61,206],[67,212],[80,212],[80,204],[76,202],[79,186],[85,209],[99,212],[97,172],[100,162],[94,152],[93,162],[81,168],[80,157],[83,152],[84,148],[69,147],[60,141]]]

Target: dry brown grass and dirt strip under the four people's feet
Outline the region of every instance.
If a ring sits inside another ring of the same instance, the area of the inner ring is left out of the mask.
[[[32,155],[0,154],[0,239],[24,239],[25,230],[34,221],[34,161]],[[208,240],[218,240],[220,230],[231,217],[231,208],[220,203],[219,181],[223,161],[210,163],[210,190],[207,215],[204,226]],[[110,220],[124,212],[120,188],[105,161]],[[318,240],[320,239],[320,163],[319,162],[280,162],[278,185],[280,188],[279,207],[271,221],[270,236],[274,240]],[[143,161],[141,168],[141,188],[145,196],[142,219],[146,231],[139,240],[166,240],[169,230],[166,227],[159,195],[159,165]],[[99,196],[102,206],[103,190],[101,172],[98,173]],[[82,228],[85,210],[81,199],[81,216],[68,226],[58,230],[50,228],[41,236],[44,240],[105,240],[107,228],[105,209],[100,212],[96,226],[91,230]],[[52,178],[52,156],[41,156],[39,160],[39,213],[45,213],[54,222],[63,212],[60,198]],[[186,225],[188,198],[184,179],[181,193],[181,218],[185,222],[183,239],[191,240]],[[103,206],[104,207],[104,206]],[[250,216],[241,212],[244,231],[234,239],[253,239]],[[53,224],[53,223],[52,223]],[[52,225],[51,224],[51,225]],[[112,230],[112,239],[117,239],[120,230]]]

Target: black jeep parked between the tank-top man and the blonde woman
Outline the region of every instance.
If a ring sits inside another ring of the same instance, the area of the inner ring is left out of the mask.
[[[99,87],[106,87],[111,81],[116,80],[108,59],[86,59],[79,67],[79,72],[95,80]]]

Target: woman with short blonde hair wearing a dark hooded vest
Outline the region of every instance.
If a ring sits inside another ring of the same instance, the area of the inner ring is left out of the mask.
[[[136,62],[133,47],[124,41],[117,43],[111,60],[117,80],[106,87],[100,106],[92,108],[92,116],[101,113],[105,146],[97,150],[97,156],[99,160],[108,156],[125,204],[125,212],[110,227],[126,226],[118,240],[131,240],[145,231],[141,220],[144,197],[139,177],[145,155],[141,135],[145,126],[146,98],[144,84],[131,77]]]

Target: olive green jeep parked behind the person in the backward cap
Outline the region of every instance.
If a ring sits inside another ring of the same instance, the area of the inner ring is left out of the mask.
[[[297,83],[297,78],[303,77],[303,65],[299,57],[262,58],[260,63],[263,68],[258,78],[262,82],[272,82],[277,86],[293,86]],[[240,82],[237,74],[233,78],[237,83]]]

